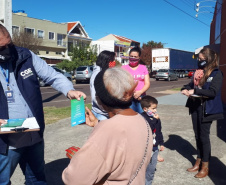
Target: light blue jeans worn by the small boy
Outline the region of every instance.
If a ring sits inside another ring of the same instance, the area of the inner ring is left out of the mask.
[[[151,161],[148,164],[146,174],[145,174],[145,185],[151,185],[155,175],[159,150],[157,147],[155,147],[152,152],[153,153],[152,153]]]

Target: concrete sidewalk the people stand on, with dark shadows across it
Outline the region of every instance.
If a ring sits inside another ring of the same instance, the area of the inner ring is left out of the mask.
[[[195,162],[195,139],[191,118],[185,108],[186,97],[180,93],[162,96],[158,113],[162,121],[165,150],[160,152],[164,162],[157,164],[153,185],[225,185],[226,184],[226,143],[217,137],[216,122],[211,128],[212,159],[210,175],[204,179],[194,178],[195,173],[186,171]],[[70,127],[70,118],[47,125],[45,130],[45,161],[48,184],[62,185],[61,174],[68,165],[65,149],[81,147],[92,128],[86,125]],[[12,177],[13,185],[24,183],[19,168]],[[76,184],[76,183],[75,183]]]

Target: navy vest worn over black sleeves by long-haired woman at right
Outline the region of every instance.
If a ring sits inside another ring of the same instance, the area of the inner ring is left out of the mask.
[[[215,69],[207,79],[206,83],[203,85],[203,89],[208,89],[212,78],[219,72],[219,69]],[[221,84],[222,86],[222,84]],[[221,89],[221,88],[220,88]],[[221,100],[221,90],[219,90],[215,98],[209,98],[205,102],[205,114],[219,114],[223,113],[223,104]]]

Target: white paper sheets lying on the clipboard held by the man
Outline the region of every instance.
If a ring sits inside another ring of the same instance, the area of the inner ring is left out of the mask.
[[[39,129],[40,127],[38,125],[36,118],[31,117],[31,118],[26,118],[21,126],[1,127],[1,132],[10,132],[12,131],[11,129],[15,129],[15,128],[28,128],[29,130],[32,130],[32,129]]]

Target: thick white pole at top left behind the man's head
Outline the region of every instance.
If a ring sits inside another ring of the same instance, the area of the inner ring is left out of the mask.
[[[12,0],[0,0],[0,23],[12,36]]]

